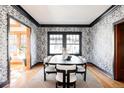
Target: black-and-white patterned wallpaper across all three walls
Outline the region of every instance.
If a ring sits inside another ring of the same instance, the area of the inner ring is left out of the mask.
[[[82,56],[113,76],[113,23],[124,18],[124,6],[104,16],[93,27],[37,27],[12,6],[0,5],[0,84],[7,80],[7,14],[31,27],[31,65],[47,56],[47,32],[82,32]]]

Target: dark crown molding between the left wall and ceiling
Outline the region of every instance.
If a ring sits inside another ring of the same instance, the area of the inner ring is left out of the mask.
[[[20,5],[11,5],[14,9],[16,9],[18,12],[20,12],[22,15],[24,15],[26,18],[28,18],[31,22],[33,22],[36,26],[39,26],[40,24],[29,14],[27,13]]]

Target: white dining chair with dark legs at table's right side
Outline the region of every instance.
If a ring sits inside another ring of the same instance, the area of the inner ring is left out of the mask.
[[[86,73],[87,73],[87,62],[86,62],[86,59],[79,56],[79,58],[81,59],[82,62],[84,62],[83,65],[77,65],[76,66],[76,73],[77,74],[83,74],[84,75],[84,81],[86,81]]]

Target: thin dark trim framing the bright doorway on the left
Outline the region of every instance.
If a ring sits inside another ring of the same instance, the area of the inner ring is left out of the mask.
[[[17,18],[15,18],[15,17],[13,17],[13,16],[11,16],[11,15],[9,15],[9,14],[7,14],[7,79],[8,79],[8,82],[10,83],[10,58],[9,58],[9,32],[10,32],[10,18],[12,18],[12,19],[14,19],[14,20],[16,20],[17,22],[19,22],[20,24],[23,24],[24,26],[26,26],[28,29],[29,29],[29,31],[30,31],[30,37],[29,37],[29,39],[30,39],[30,49],[29,49],[29,51],[30,51],[30,54],[29,54],[29,56],[30,56],[30,69],[31,69],[31,27],[30,26],[28,26],[28,25],[26,25],[24,22],[22,22],[22,21],[20,21],[20,20],[18,20]]]

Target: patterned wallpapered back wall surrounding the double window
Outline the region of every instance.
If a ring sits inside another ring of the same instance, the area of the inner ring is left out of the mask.
[[[38,32],[38,45],[39,50],[38,60],[43,61],[43,58],[47,56],[47,32],[82,32],[82,56],[88,61],[90,60],[90,30],[89,28],[81,27],[40,27]]]

